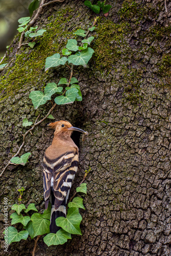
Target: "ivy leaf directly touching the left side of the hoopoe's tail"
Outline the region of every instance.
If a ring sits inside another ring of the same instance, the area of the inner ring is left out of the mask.
[[[33,222],[34,237],[39,234],[50,233],[50,220],[45,219],[43,215],[33,214],[31,216],[31,221]]]

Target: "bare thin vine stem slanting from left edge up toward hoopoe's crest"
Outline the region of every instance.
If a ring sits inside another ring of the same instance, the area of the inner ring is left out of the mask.
[[[16,153],[13,157],[16,157],[16,156],[19,154],[19,152],[22,150],[22,147],[23,147],[24,144],[25,144],[25,138],[26,138],[26,136],[28,135],[28,133],[29,133],[30,131],[32,131],[35,126],[37,126],[39,123],[41,123],[42,121],[44,121],[44,120],[49,116],[49,114],[52,112],[52,110],[55,108],[56,105],[57,105],[57,104],[55,103],[55,104],[52,106],[52,108],[49,110],[48,114],[47,114],[44,118],[42,118],[40,121],[37,122],[37,119],[38,119],[39,116],[40,116],[40,115],[38,115],[38,117],[36,118],[36,121],[35,121],[34,125],[24,134],[24,136],[23,136],[23,143],[22,143],[22,145],[20,145],[19,150],[17,151],[17,153]],[[11,160],[11,159],[10,159],[10,160]],[[7,168],[8,165],[10,165],[10,164],[11,164],[11,162],[9,161],[8,164],[4,167],[4,169],[3,169],[3,171],[2,171],[2,173],[1,173],[1,175],[0,175],[0,177],[3,175],[3,173],[4,173],[5,170],[6,170],[6,168]]]

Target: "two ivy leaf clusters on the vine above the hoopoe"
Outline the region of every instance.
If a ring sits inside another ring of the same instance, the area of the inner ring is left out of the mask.
[[[89,31],[93,31],[94,29],[95,27],[92,27]],[[94,36],[90,36],[86,39],[86,31],[83,29],[78,29],[73,34],[85,37],[85,39],[81,40],[81,45],[78,45],[78,41],[76,39],[68,39],[66,48],[61,50],[63,57],[61,57],[59,53],[55,53],[54,55],[46,58],[45,71],[52,67],[65,65],[67,61],[68,64],[71,63],[73,66],[80,65],[86,68],[88,67],[88,62],[94,53],[94,50],[88,46],[93,41]],[[61,84],[63,86],[66,85],[67,87],[60,87],[59,85]],[[74,101],[82,100],[78,80],[75,77],[71,77],[69,81],[67,78],[62,77],[58,84],[55,82],[48,83],[45,87],[44,93],[41,91],[32,91],[29,98],[32,100],[34,108],[37,109],[40,105],[44,105],[47,101],[51,100],[51,97],[54,94],[60,94],[54,98],[57,105],[70,104]]]

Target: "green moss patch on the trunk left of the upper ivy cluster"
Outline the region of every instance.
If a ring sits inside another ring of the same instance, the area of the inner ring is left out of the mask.
[[[16,55],[13,68],[9,68],[1,78],[0,93],[6,90],[5,97],[7,97],[27,84],[31,86],[34,84],[37,87],[45,86],[48,77],[48,72],[45,73],[46,58],[55,53],[61,54],[61,49],[66,46],[67,39],[71,38],[72,32],[67,30],[67,23],[71,17],[65,15],[71,12],[72,10],[66,8],[56,13],[55,20],[53,15],[49,17],[52,22],[47,24],[47,32],[36,39],[35,48],[21,48],[23,53]],[[59,34],[60,37],[58,37]]]

